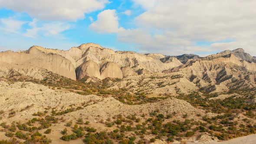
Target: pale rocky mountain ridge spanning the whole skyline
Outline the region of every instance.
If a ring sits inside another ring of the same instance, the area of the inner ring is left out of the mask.
[[[67,51],[32,46],[23,52],[0,52],[0,66],[18,69],[47,69],[70,79],[82,79],[85,76],[98,79],[119,78],[154,72],[184,71],[197,63],[233,63],[249,71],[256,71],[255,57],[243,49],[226,50],[207,57],[194,54],[164,56],[161,54],[140,54],[130,51],[113,51],[94,43],[82,44]],[[209,64],[207,64],[209,65]],[[211,65],[211,64],[210,64]],[[193,68],[186,75],[203,72],[211,68]],[[200,76],[203,78],[202,76]]]

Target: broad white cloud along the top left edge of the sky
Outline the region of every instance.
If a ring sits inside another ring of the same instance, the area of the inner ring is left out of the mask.
[[[101,10],[108,0],[0,0],[0,7],[26,12],[40,20],[83,19],[85,13]]]

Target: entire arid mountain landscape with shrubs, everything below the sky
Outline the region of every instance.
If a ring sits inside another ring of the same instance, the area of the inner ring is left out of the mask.
[[[0,144],[218,144],[255,134],[255,110],[255,57],[243,49],[0,52]]]

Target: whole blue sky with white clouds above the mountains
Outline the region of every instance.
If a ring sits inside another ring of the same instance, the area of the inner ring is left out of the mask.
[[[255,0],[0,0],[0,51],[33,45],[256,56]]]

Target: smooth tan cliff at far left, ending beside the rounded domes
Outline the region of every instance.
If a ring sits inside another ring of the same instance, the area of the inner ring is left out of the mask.
[[[75,67],[72,63],[53,50],[33,46],[26,52],[0,52],[0,66],[17,68],[22,65],[22,69],[47,69],[59,75],[75,79]]]

